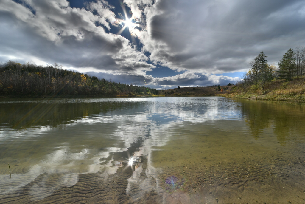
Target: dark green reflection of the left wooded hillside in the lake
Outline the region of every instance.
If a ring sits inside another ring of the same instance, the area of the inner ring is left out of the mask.
[[[96,114],[107,114],[109,111],[120,111],[130,114],[142,103],[58,103],[54,100],[46,102],[2,103],[0,108],[0,126],[13,128],[58,126],[66,122],[85,118]],[[128,113],[129,111],[129,113]]]

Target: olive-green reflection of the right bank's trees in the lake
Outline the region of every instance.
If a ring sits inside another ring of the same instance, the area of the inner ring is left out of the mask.
[[[267,127],[273,128],[278,142],[285,145],[287,137],[304,136],[305,107],[302,104],[288,104],[270,101],[240,100],[244,118],[255,139]]]

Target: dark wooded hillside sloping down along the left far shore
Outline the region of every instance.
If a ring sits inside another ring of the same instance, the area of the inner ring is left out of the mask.
[[[62,66],[40,66],[8,61],[0,64],[0,95],[38,97],[137,96],[158,94],[158,90],[98,79]]]

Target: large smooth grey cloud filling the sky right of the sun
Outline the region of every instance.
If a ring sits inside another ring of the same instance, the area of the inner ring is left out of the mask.
[[[146,12],[144,45],[152,61],[172,69],[238,71],[262,50],[274,62],[304,45],[304,8],[300,1],[160,0]],[[183,54],[191,58],[178,61]]]

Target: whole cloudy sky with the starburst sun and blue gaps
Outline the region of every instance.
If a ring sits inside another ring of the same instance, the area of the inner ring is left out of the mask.
[[[0,61],[169,89],[236,83],[305,46],[301,0],[1,0]]]

